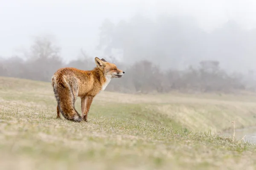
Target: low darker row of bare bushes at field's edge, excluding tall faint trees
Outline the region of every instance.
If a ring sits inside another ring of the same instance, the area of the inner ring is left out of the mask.
[[[26,59],[10,57],[0,59],[0,76],[18,77],[49,82],[58,68],[75,67],[90,70],[96,66],[93,57],[81,50],[81,57],[64,63],[59,55],[61,48],[49,39],[38,37],[31,46]],[[255,91],[253,71],[247,75],[228,74],[220,68],[219,62],[205,60],[198,67],[188,67],[182,71],[161,69],[150,60],[140,60],[134,64],[118,62],[114,57],[107,57],[125,71],[122,79],[113,79],[106,90],[124,93],[168,93],[185,92],[224,92],[237,90]]]

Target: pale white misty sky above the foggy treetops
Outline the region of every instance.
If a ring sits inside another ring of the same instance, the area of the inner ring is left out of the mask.
[[[235,20],[243,28],[256,28],[256,0],[0,0],[0,56],[29,48],[32,37],[52,34],[65,60],[96,51],[99,26],[105,18],[113,23],[135,14],[195,17],[205,31]]]

